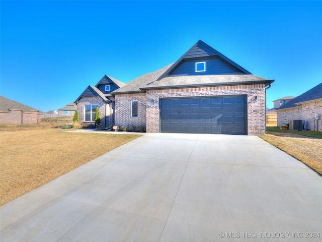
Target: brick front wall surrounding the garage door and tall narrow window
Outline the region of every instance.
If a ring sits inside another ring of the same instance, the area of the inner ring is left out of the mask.
[[[159,132],[159,98],[246,95],[248,135],[263,135],[266,130],[265,84],[150,90],[146,93],[115,95],[115,124],[145,126],[146,132]],[[258,102],[255,102],[255,96]],[[139,116],[131,118],[131,100],[139,101]],[[153,105],[151,104],[153,100]]]

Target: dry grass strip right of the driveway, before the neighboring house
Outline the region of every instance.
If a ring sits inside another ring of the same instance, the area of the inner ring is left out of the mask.
[[[296,133],[278,129],[271,129],[275,132],[260,137],[322,174],[322,134],[312,131]]]

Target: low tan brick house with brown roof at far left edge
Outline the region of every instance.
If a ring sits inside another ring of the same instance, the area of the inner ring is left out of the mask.
[[[0,96],[0,124],[35,124],[39,112],[36,108]]]

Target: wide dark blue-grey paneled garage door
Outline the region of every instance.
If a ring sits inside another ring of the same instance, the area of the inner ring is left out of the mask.
[[[245,135],[246,96],[160,99],[162,133]]]

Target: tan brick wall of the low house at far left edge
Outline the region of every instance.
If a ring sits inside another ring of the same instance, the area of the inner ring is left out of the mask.
[[[0,112],[0,124],[36,124],[38,112],[23,112],[22,110],[12,110],[11,112]]]

